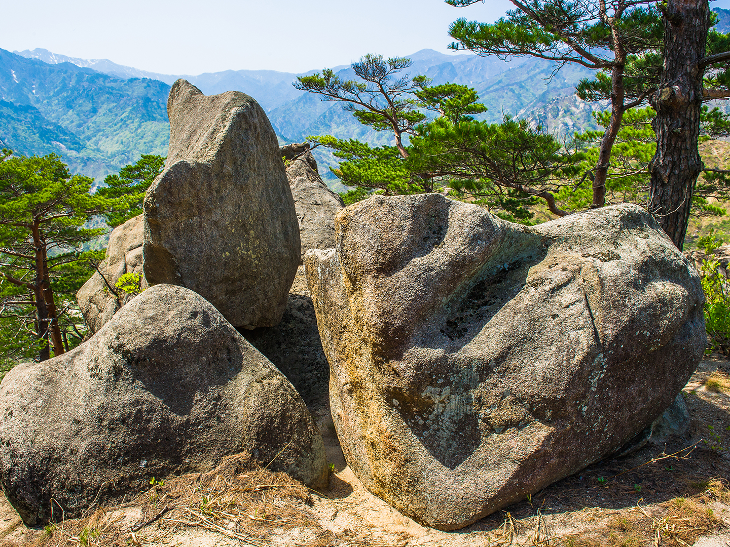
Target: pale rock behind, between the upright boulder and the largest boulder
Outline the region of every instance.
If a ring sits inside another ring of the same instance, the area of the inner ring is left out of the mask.
[[[282,147],[283,157],[293,158],[286,168],[291,194],[294,197],[296,218],[299,220],[301,238],[301,263],[304,253],[309,249],[328,249],[334,247],[334,217],[345,203],[330,190],[320,178],[317,163],[309,152],[309,145],[299,154],[286,149],[303,145],[289,144]],[[299,150],[297,148],[294,149]]]

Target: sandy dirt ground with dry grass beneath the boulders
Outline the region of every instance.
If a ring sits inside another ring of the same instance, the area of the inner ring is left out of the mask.
[[[730,392],[705,387],[728,373],[727,360],[702,361],[683,391],[691,416],[683,437],[597,462],[456,532],[422,527],[364,489],[325,399],[312,412],[334,466],[327,490],[231,459],[45,529],[23,526],[1,497],[0,546],[730,547]]]

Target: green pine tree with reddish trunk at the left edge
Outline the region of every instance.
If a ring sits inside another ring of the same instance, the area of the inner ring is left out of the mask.
[[[0,369],[49,357],[78,344],[85,326],[76,292],[91,276],[82,245],[104,232],[85,228],[115,201],[90,193],[93,180],[72,176],[56,155],[0,154]],[[55,311],[54,311],[55,309]]]

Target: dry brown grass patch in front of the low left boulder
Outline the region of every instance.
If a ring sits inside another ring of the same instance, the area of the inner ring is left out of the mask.
[[[172,477],[139,494],[128,504],[142,510],[142,521],[134,526],[121,526],[122,511],[99,508],[92,516],[47,527],[39,545],[139,545],[145,527],[158,523],[201,527],[248,545],[268,546],[266,538],[274,529],[318,528],[310,503],[305,486],[285,473],[251,464],[248,454],[237,454],[210,473]]]

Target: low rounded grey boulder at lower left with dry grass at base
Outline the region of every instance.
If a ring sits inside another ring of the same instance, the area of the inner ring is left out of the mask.
[[[289,381],[210,303],[172,285],[132,299],[72,352],[13,368],[0,416],[0,481],[28,526],[51,518],[51,498],[53,517],[69,518],[98,492],[103,503],[241,451],[304,483],[328,473]]]

